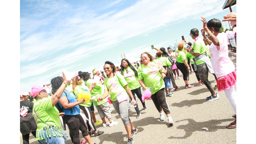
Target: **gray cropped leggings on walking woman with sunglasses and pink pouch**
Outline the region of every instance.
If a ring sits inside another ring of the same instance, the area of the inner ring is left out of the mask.
[[[127,95],[128,97],[128,95]],[[128,107],[129,107],[129,99],[122,101],[119,103],[118,101],[112,101],[113,107],[115,108],[116,112],[121,116],[121,119],[124,123],[124,126],[127,127],[130,124],[130,119],[128,117]]]

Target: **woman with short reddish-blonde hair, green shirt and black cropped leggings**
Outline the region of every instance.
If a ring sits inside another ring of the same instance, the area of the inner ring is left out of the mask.
[[[183,50],[184,43],[180,42],[178,44],[178,50],[175,52],[175,58],[177,61],[177,68],[181,71],[183,74],[183,80],[185,82],[185,88],[192,88],[194,87],[193,85],[189,84],[189,70],[190,67],[188,65],[188,59],[187,55],[182,51]]]

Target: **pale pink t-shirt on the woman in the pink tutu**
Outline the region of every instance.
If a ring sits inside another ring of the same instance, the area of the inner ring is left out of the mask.
[[[230,74],[235,70],[233,62],[228,57],[228,38],[224,32],[217,35],[220,46],[210,45],[213,71],[217,78]],[[220,50],[217,50],[219,48]]]

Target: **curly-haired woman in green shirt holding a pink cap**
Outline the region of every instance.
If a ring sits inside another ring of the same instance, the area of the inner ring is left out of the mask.
[[[168,123],[173,124],[173,119],[170,114],[170,108],[166,101],[164,78],[166,70],[161,65],[160,61],[154,60],[153,56],[148,52],[141,54],[140,67],[138,69],[138,79],[144,90],[151,87],[151,99],[153,100],[156,109],[160,113],[160,120],[164,121],[164,112],[168,118]],[[163,112],[164,111],[164,112]]]

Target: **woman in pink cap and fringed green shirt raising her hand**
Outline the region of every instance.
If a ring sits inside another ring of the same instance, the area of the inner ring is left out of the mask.
[[[62,134],[59,133],[63,131],[60,123],[60,113],[55,107],[55,104],[59,101],[67,85],[66,75],[64,73],[62,74],[63,83],[53,96],[48,97],[45,90],[48,87],[34,86],[30,91],[31,96],[37,100],[33,106],[33,116],[37,124],[36,140],[39,140],[43,144],[65,144]],[[57,131],[53,130],[43,121],[54,127]]]

